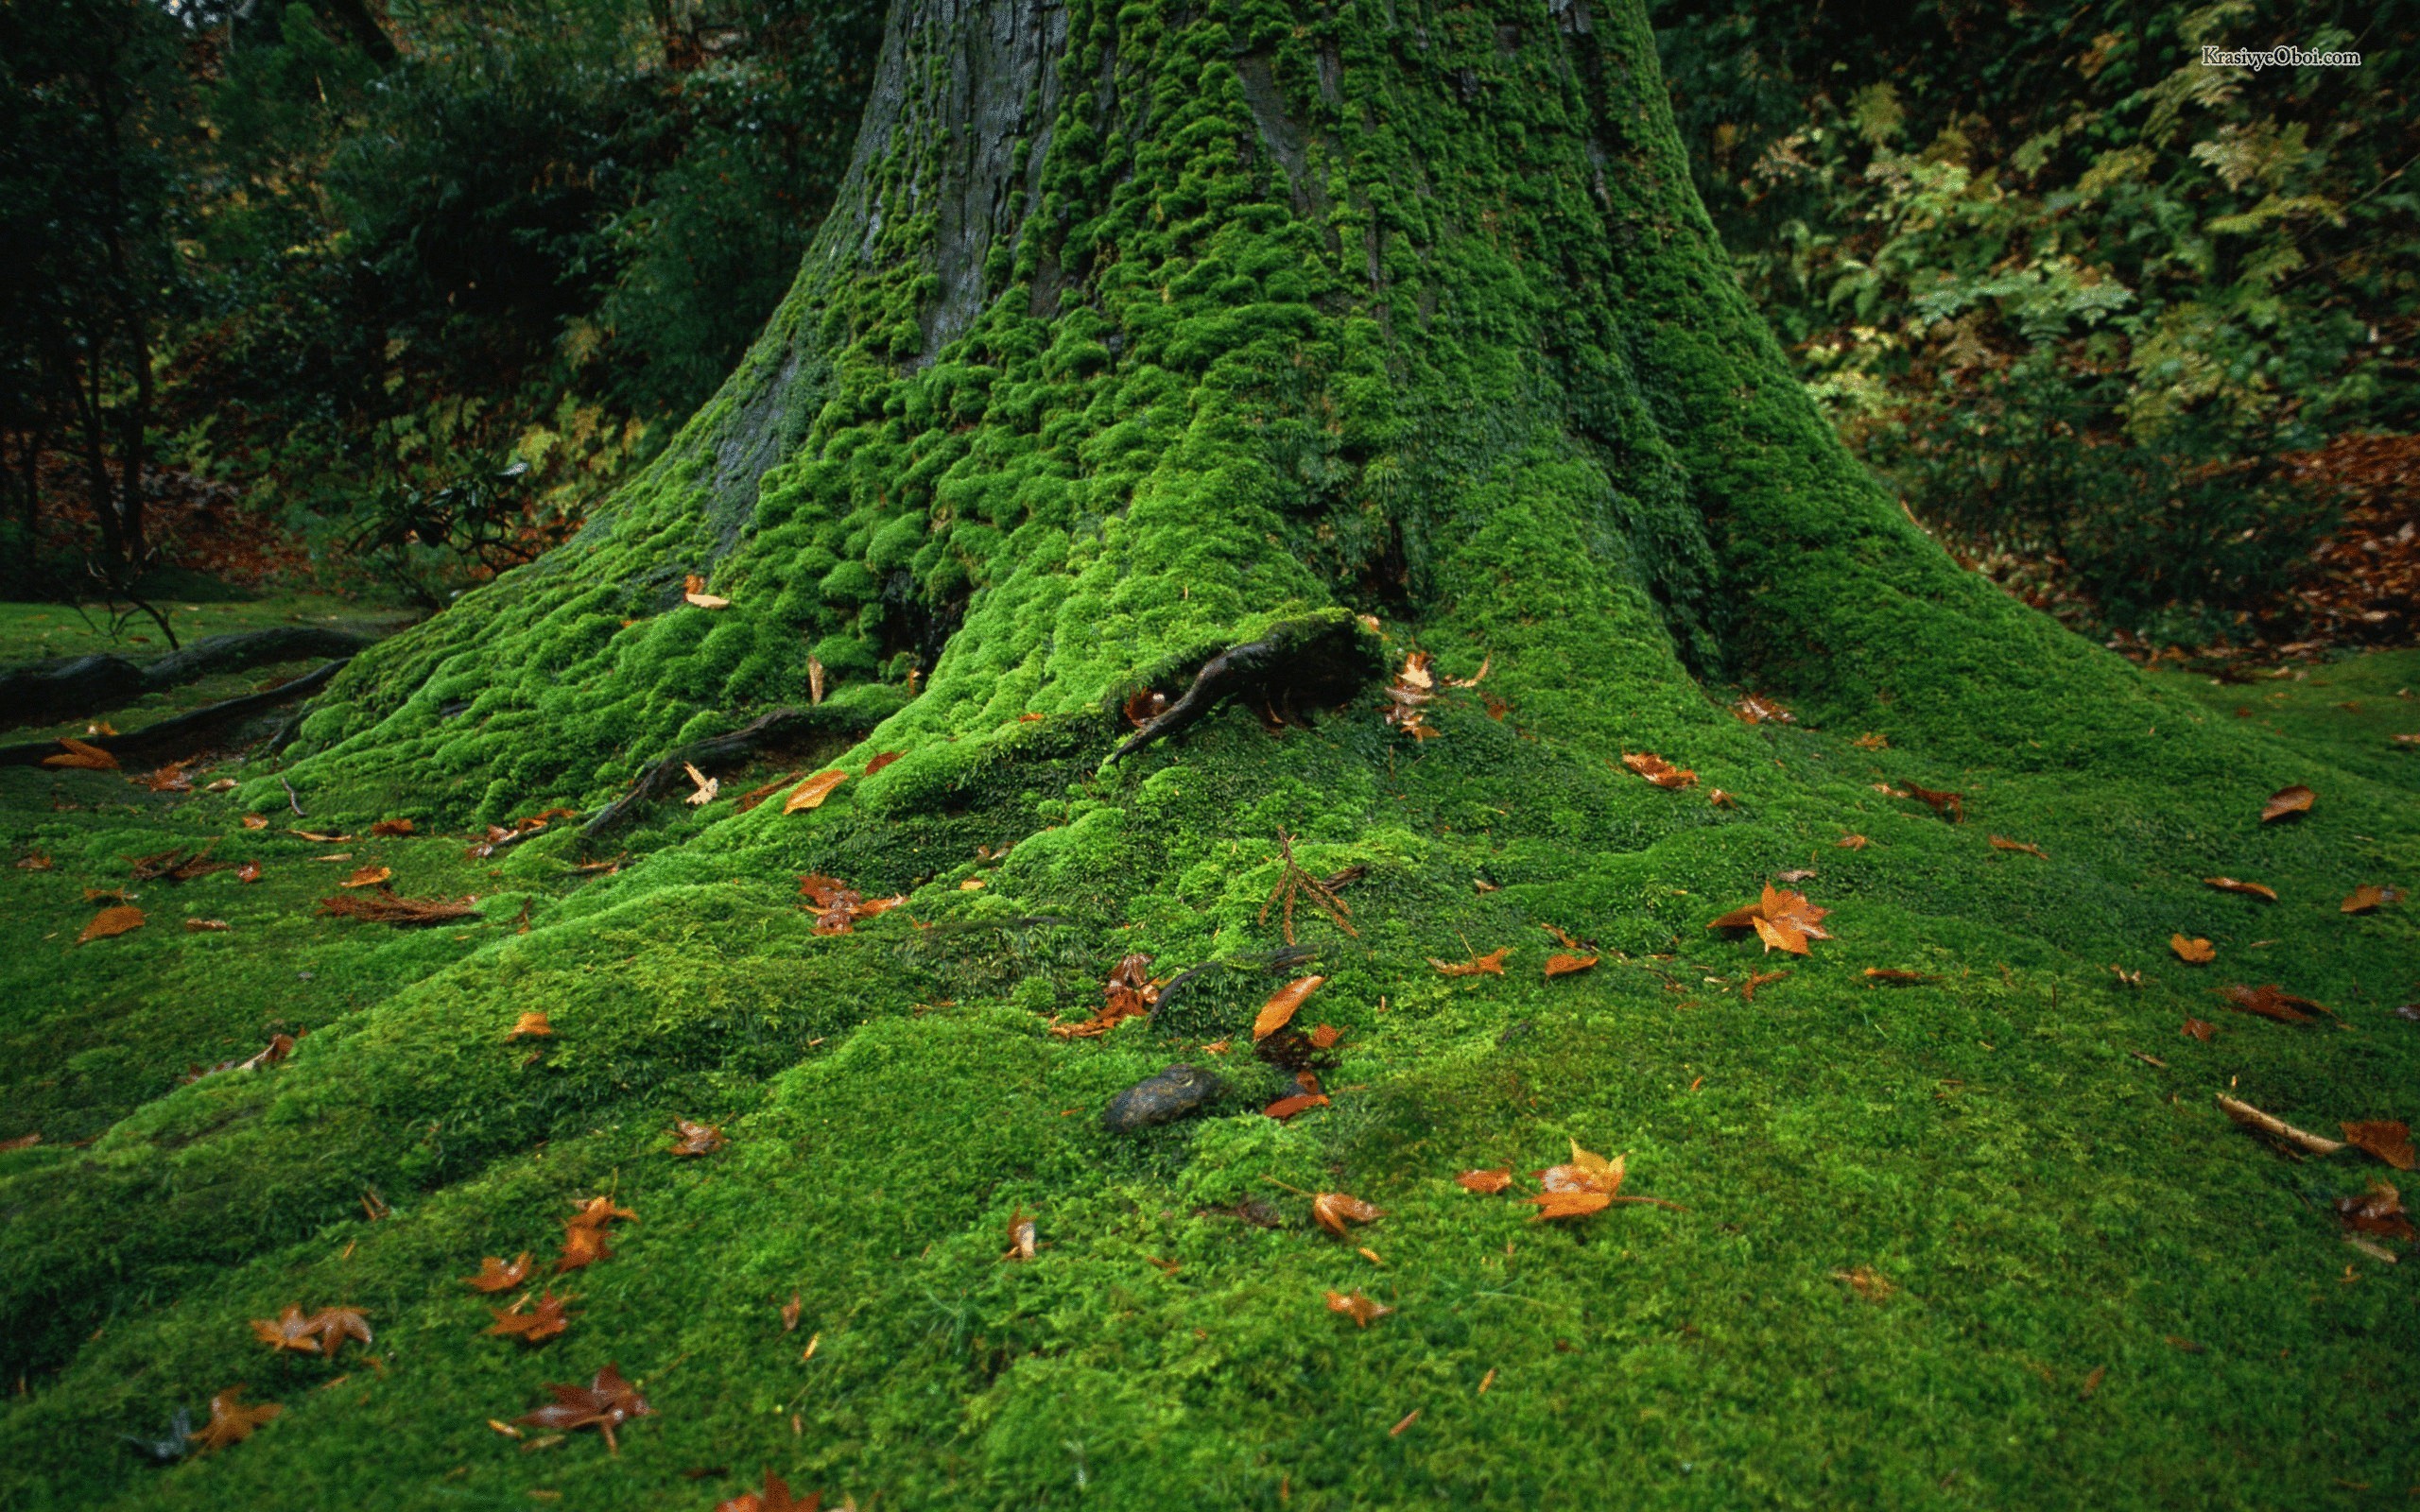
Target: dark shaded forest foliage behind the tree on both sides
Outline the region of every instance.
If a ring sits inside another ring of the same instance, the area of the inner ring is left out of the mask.
[[[2415,636],[2420,7],[1650,10],[1742,285],[1960,559],[2137,656]],[[881,12],[7,0],[0,593],[438,607],[561,539],[779,300]]]

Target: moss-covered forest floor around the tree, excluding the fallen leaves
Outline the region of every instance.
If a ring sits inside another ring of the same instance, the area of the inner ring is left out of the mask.
[[[237,627],[232,605],[179,612]],[[65,653],[70,624],[0,607],[0,653]],[[980,999],[941,997],[968,977],[927,965],[966,895],[1045,895],[1048,847],[1019,871],[966,835],[912,868],[929,881],[908,907],[823,939],[791,876],[716,881],[714,859],[678,856],[728,798],[666,803],[629,849],[690,868],[617,893],[559,820],[479,856],[479,835],[329,830],[307,803],[247,827],[203,791],[232,760],[174,793],[0,769],[12,1265],[106,1272],[121,1227],[148,1222],[109,1207],[133,1185],[41,1207],[39,1181],[75,1161],[169,1171],[143,1176],[148,1205],[278,1202],[276,1171],[186,1185],[177,1161],[247,1120],[319,1127],[348,1091],[332,1067],[392,1074],[351,1093],[443,1173],[242,1263],[126,1260],[94,1306],[63,1304],[73,1340],[0,1408],[0,1502],[704,1512],[770,1468],[859,1507],[2405,1505],[2420,1265],[2391,1219],[2355,1234],[2340,1205],[2410,1178],[2277,1149],[2214,1096],[2330,1137],[2420,1113],[2420,914],[2345,912],[2364,883],[2420,883],[2420,750],[2393,740],[2420,731],[2420,653],[2147,677],[2195,723],[2270,735],[2314,810],[2263,825],[2265,774],[2173,806],[2151,777],[2101,793],[2033,774],[1987,777],[1953,825],[1876,791],[1934,777],[1900,752],[1759,726],[1803,791],[1767,772],[1759,808],[1754,772],[1723,774],[1745,815],[1556,890],[1554,830],[1583,818],[1539,789],[1532,835],[1457,777],[1532,760],[1508,726],[1474,714],[1401,769],[1379,755],[1396,791],[1372,810],[1396,827],[1355,830],[1319,815],[1350,803],[1348,748],[1382,735],[1268,740],[1229,714],[1123,801],[1186,835],[1183,815],[1268,793],[1312,871],[1370,866],[1343,890],[1360,931],[1302,910],[1316,965],[1212,970],[1210,992],[1101,1038],[1048,1023],[1087,1016],[1123,939],[1159,929],[1140,902],[1106,943],[1002,905]],[[1212,791],[1179,793],[1188,767]],[[1624,803],[1704,806],[1634,786]],[[1406,837],[1445,854],[1491,825],[1496,861],[1440,900]],[[232,866],[131,876],[177,849]],[[1208,868],[1237,842],[1200,852]],[[474,912],[322,914],[365,868]],[[1275,948],[1278,924],[1251,919],[1275,871],[1254,868],[1186,888],[1234,914],[1229,939]],[[2277,900],[2205,885],[2219,868]],[[1803,960],[1706,927],[1774,878],[1834,910]],[[140,927],[77,943],[119,905]],[[1542,977],[1563,948],[1549,927],[1597,965]],[[1425,965],[1500,946],[1505,975]],[[895,968],[840,994],[866,980],[840,953]],[[1261,1103],[1292,1084],[1249,1057],[1251,1018],[1292,970],[1329,975],[1300,1021],[1343,1038],[1321,1062],[1333,1101],[1278,1120]],[[2328,1014],[2270,1021],[2219,992],[2270,982]],[[513,1035],[513,1011],[552,1023]],[[276,1035],[302,1035],[293,1057],[237,1064]],[[1210,1118],[1101,1127],[1118,1089],[1179,1060],[1229,1079]],[[535,1139],[469,1168],[445,1154],[506,1101],[535,1108]],[[728,1144],[680,1159],[675,1118]],[[1529,1173],[1573,1147],[1626,1156],[1624,1195],[1672,1207],[1529,1222]],[[1512,1190],[1457,1185],[1486,1168]],[[1382,1217],[1331,1236],[1321,1190]],[[598,1193],[636,1214],[610,1258],[494,1297],[465,1285],[486,1256],[554,1263]],[[547,1285],[576,1294],[561,1338],[486,1333],[491,1306]],[[1358,1323],[1331,1294],[1392,1311]],[[254,1321],[288,1304],[361,1309],[375,1340],[273,1350]],[[605,1364],[653,1408],[617,1452],[520,1422]],[[179,1410],[201,1430],[237,1384],[283,1408],[249,1439],[167,1466],[128,1442]]]

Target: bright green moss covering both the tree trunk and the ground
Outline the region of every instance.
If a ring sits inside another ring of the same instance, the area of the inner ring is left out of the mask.
[[[27,1079],[85,1057],[116,1091],[46,1103],[106,1125],[92,1147],[0,1154],[10,1502],[726,1495],[692,1466],[939,1507],[2311,1505],[2420,1476],[2403,1270],[2328,1214],[2367,1168],[2282,1164],[2209,1106],[2413,1113],[2410,914],[2335,910],[2420,864],[2420,781],[2384,740],[2413,658],[2326,673],[2364,714],[2280,687],[2234,719],[2246,694],[2144,677],[1958,573],[1721,273],[1636,10],[1590,27],[1079,5],[1070,77],[1113,87],[1060,94],[1045,208],[963,336],[924,365],[915,186],[941,145],[903,131],[859,189],[881,232],[825,230],[682,445],[566,552],[365,656],[286,772],[315,818],[424,830],[593,806],[803,702],[816,656],[832,731],[881,721],[823,808],[666,803],[612,876],[574,873],[564,832],[484,885],[457,842],[399,847],[407,890],[496,890],[460,931],[307,919],[281,883],[257,934],[17,939],[51,946],[7,968]],[[791,344],[811,394],[779,389]],[[724,535],[719,448],[779,419],[765,394],[811,421]],[[733,607],[687,605],[692,571]],[[903,656],[961,610],[910,697]],[[1360,612],[1389,658],[1488,665],[1440,738],[1370,697],[1283,735],[1229,706],[1104,764],[1137,687]],[[1800,723],[1730,719],[1738,682]],[[1701,784],[1631,777],[1636,750]],[[900,760],[866,774],[876,752]],[[0,873],[39,902],[10,929],[73,924],[140,830],[232,844],[240,808],[286,801],[247,777]],[[17,844],[80,823],[46,793],[123,798],[5,781]],[[1880,791],[1909,781],[1967,823]],[[2258,825],[2284,781],[2321,806]],[[1270,965],[1278,830],[1314,876],[1370,868],[1353,934],[1297,910],[1316,963]],[[808,871],[910,902],[816,936]],[[1750,1002],[1771,960],[1709,922],[1779,873],[1834,939]],[[1544,980],[1549,927],[1600,963]],[[2222,965],[2168,958],[2176,929]],[[1498,946],[1503,977],[1428,965]],[[1150,1021],[1050,1035],[1130,951],[1205,970]],[[143,1064],[252,1035],[322,956],[358,1004],[286,1067],[169,1091],[94,1057],[111,1021]],[[106,1021],[80,1006],[104,970]],[[1290,1079],[1241,1045],[1297,970],[1343,1038],[1333,1103],[1278,1127],[1256,1108]],[[2180,1038],[2226,980],[2343,1028]],[[537,1060],[503,1040],[532,1009]],[[1208,1118],[1106,1135],[1108,1098],[1176,1060],[1229,1081]],[[675,1161],[673,1115],[733,1144]],[[1684,1212],[1539,1227],[1452,1183],[1568,1139]],[[1384,1217],[1336,1243],[1268,1178]],[[574,1333],[482,1338],[457,1277],[544,1253],[607,1185],[644,1222],[566,1282]],[[365,1188],[397,1214],[361,1219]],[[1215,1212],[1246,1193],[1285,1227]],[[1002,1263],[1019,1207],[1043,1248]],[[1856,1265],[1900,1294],[1859,1299]],[[1355,1287],[1396,1314],[1321,1304]],[[319,1389],[341,1367],[244,1328],[336,1299],[373,1309],[385,1372]],[[620,1459],[484,1427],[605,1360],[661,1410]],[[165,1473],[116,1447],[235,1379],[288,1415]]]

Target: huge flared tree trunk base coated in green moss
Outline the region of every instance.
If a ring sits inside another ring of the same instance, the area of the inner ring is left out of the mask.
[[[2081,651],[1798,394],[1638,5],[908,0],[741,373],[578,542],[361,658],[298,781],[595,803],[813,660],[835,745],[958,743],[905,798],[1353,614],[1597,740],[1699,682],[1863,711],[1948,656],[2023,699]]]

